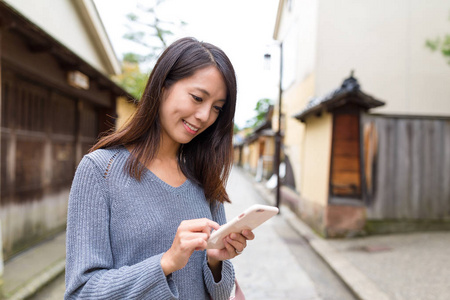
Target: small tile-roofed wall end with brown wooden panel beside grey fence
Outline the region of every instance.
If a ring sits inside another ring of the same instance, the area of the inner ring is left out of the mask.
[[[327,236],[364,230],[367,195],[361,120],[369,109],[382,105],[384,102],[361,91],[352,74],[340,87],[323,97],[313,98],[305,109],[294,115],[305,124],[305,164],[314,163],[316,159],[329,162],[326,174],[308,174],[304,179],[308,194],[311,186],[308,182],[319,180],[317,176],[326,176],[328,195],[324,209],[317,206],[311,210],[304,204],[298,213]],[[328,134],[321,133],[324,124],[331,128]],[[320,137],[330,144],[324,146]],[[289,198],[289,194],[284,193]]]

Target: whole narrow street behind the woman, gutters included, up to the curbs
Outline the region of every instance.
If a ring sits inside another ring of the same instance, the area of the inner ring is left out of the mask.
[[[266,204],[252,179],[237,168],[231,173],[228,192],[233,201],[226,205],[228,219],[252,204]],[[246,299],[355,299],[282,214],[256,229],[255,235],[256,239],[233,262]],[[63,294],[64,276],[59,276],[30,299],[60,300]]]

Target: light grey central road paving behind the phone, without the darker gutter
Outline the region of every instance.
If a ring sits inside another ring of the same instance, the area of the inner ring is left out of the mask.
[[[225,206],[228,219],[263,201],[238,169],[233,170],[227,190],[233,201]],[[233,260],[246,299],[320,299],[313,282],[275,230],[281,218],[276,216],[258,227],[255,240]]]

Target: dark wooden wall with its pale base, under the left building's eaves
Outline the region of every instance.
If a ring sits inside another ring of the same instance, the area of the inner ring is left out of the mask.
[[[9,259],[63,228],[76,165],[99,134],[99,109],[8,69],[1,92],[0,207]]]

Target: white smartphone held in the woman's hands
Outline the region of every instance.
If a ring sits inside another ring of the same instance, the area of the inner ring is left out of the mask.
[[[278,208],[268,205],[254,204],[239,216],[222,225],[214,231],[208,239],[208,249],[222,249],[225,247],[223,239],[230,233],[241,233],[244,229],[253,230],[278,213]]]

